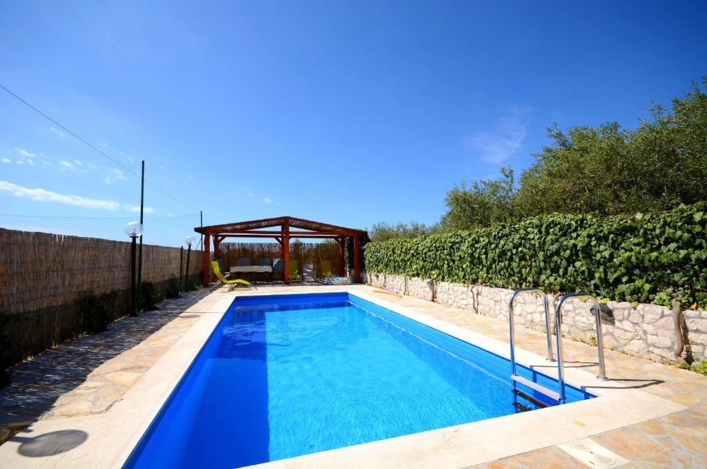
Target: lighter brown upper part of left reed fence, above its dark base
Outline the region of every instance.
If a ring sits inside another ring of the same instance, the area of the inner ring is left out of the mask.
[[[129,289],[130,244],[0,228],[0,313],[66,305],[83,291]],[[201,255],[200,250],[192,252],[190,275],[201,272]],[[185,253],[185,263],[186,257]],[[180,248],[143,245],[144,282],[162,282],[179,274]]]

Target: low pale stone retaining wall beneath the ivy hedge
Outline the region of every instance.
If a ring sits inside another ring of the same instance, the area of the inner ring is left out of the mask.
[[[401,294],[468,309],[500,320],[508,320],[508,299],[512,291],[489,286],[433,282],[431,279],[366,272],[361,279],[372,286],[387,287]],[[552,298],[549,297],[551,313]],[[568,300],[562,307],[564,337],[595,343],[596,324],[590,302]],[[602,317],[604,347],[658,361],[675,361],[677,337],[671,308],[639,304],[636,308],[625,301],[609,301],[613,318]],[[515,323],[534,330],[545,330],[542,298],[521,294],[514,303]],[[707,311],[682,312],[682,357],[705,359],[707,347]]]

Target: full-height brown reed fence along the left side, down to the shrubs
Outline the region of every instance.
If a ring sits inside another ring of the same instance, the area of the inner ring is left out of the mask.
[[[0,228],[0,378],[8,366],[85,332],[81,294],[100,295],[109,320],[126,315],[130,250],[124,241]],[[192,284],[201,277],[202,253],[192,252]],[[154,299],[178,277],[180,248],[143,246],[142,280],[153,284]]]

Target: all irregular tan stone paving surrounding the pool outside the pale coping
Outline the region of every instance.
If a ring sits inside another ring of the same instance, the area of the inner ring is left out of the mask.
[[[346,290],[375,295],[375,289],[370,286],[350,286]],[[267,286],[247,291],[246,294],[305,291],[332,291],[332,287]],[[192,328],[199,318],[199,314],[192,311],[206,311],[231,295],[225,288],[218,289],[214,294],[209,294],[207,290],[195,291],[182,299],[160,303],[158,310],[142,313],[138,318],[119,320],[103,334],[80,337],[17,366],[11,374],[11,385],[0,390],[0,424],[25,424],[36,419],[59,422],[59,419],[107,412],[127,390],[138,385],[146,371]],[[381,297],[412,311],[508,342],[508,328],[502,321],[409,296],[397,298],[381,294]],[[189,311],[185,313],[187,308]],[[540,332],[517,327],[516,340],[521,349],[540,355],[545,352],[544,334]],[[596,347],[571,341],[565,341],[564,346],[567,368],[577,367],[597,373]],[[605,357],[607,375],[612,381],[639,388],[688,408],[597,434],[591,439],[629,460],[622,467],[707,467],[707,377],[611,350],[606,351]],[[542,429],[538,431],[542,432]],[[503,441],[498,444],[503,445]],[[26,467],[37,467],[42,465],[41,460],[26,458],[23,461],[26,461]],[[395,454],[390,455],[389,461],[391,467],[396,465]],[[474,467],[588,466],[559,446],[549,446]]]

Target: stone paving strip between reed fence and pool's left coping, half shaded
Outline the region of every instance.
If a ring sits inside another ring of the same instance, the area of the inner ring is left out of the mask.
[[[105,412],[194,324],[182,314],[209,290],[163,301],[106,332],[84,335],[16,366],[0,389],[0,442],[37,419]]]

